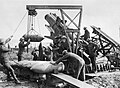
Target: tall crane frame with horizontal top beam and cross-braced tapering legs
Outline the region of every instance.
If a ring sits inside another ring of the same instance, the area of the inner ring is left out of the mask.
[[[74,51],[75,53],[77,53],[78,39],[79,39],[79,36],[80,36],[81,15],[82,15],[82,6],[81,5],[27,5],[26,9],[28,10],[28,13],[29,13],[29,11],[33,11],[33,13],[28,14],[29,15],[28,18],[33,18],[33,16],[37,15],[36,14],[36,9],[49,9],[49,10],[51,10],[51,9],[58,9],[58,10],[60,10],[61,18],[62,18],[63,24],[64,24],[65,34],[66,34],[66,37],[67,37],[67,42],[69,44],[69,49],[72,52],[73,52],[72,49],[74,49],[74,44],[73,44],[73,46],[71,48],[67,32],[71,32],[72,31],[72,34],[74,32],[77,32],[77,39],[76,39],[77,44],[76,44],[75,51]],[[74,22],[74,19],[71,19],[70,16],[64,11],[64,9],[79,10],[80,11],[79,15],[76,15],[76,16],[79,16],[79,19],[78,19],[79,22],[78,23]],[[71,21],[71,23],[73,23],[73,25],[76,26],[77,29],[68,31],[67,30],[67,25],[65,24],[64,16],[66,16]],[[28,24],[28,30],[29,30],[29,24]]]

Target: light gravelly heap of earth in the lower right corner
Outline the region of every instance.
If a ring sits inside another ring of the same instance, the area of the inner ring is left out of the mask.
[[[86,81],[95,88],[120,88],[120,71],[108,72]]]

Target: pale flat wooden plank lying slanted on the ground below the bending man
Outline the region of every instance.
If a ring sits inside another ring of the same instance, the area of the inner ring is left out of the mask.
[[[53,76],[61,79],[61,80],[64,80],[65,82],[69,83],[69,84],[72,84],[76,87],[79,87],[79,88],[95,88],[94,86],[92,85],[89,85],[85,82],[82,82],[78,79],[75,79],[69,75],[66,75],[66,74],[63,74],[63,73],[59,73],[59,74],[52,74]]]

